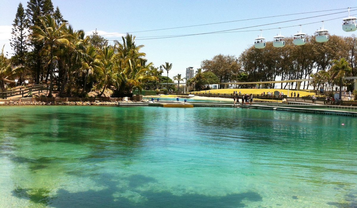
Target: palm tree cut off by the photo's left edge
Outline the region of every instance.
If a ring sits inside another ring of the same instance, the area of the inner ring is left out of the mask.
[[[0,53],[0,88],[2,91],[5,91],[4,80],[10,78],[12,75],[15,75],[19,70],[22,69],[22,65],[11,66],[11,62],[4,54],[4,47],[1,49]]]

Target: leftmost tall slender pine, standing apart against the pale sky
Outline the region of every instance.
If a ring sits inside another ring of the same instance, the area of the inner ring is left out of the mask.
[[[12,37],[10,40],[10,45],[12,50],[14,50],[14,56],[11,57],[12,62],[15,65],[25,65],[26,53],[27,53],[27,23],[24,7],[20,3],[17,7],[17,12],[12,24]],[[20,73],[19,83],[20,85],[25,80],[25,72]]]

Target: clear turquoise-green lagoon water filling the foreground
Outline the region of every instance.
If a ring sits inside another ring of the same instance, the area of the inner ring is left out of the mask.
[[[356,118],[109,106],[0,117],[0,207],[357,206]]]

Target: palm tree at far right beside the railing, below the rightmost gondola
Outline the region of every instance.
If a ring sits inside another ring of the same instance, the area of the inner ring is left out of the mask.
[[[346,75],[350,75],[352,72],[352,69],[348,62],[345,60],[345,58],[342,58],[340,60],[333,60],[332,61],[332,66],[330,68],[330,72],[332,74],[333,79],[339,79],[340,80],[340,99],[342,98],[342,78],[345,77]]]

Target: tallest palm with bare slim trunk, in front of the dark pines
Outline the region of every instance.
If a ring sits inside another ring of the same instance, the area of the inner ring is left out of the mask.
[[[55,19],[51,15],[46,15],[39,17],[41,21],[40,26],[32,26],[32,34],[30,37],[35,41],[42,41],[44,47],[47,50],[50,50],[50,91],[48,97],[52,97],[52,88],[53,88],[53,50],[57,45],[68,45],[70,35],[64,33],[67,23],[63,22],[60,26],[57,26]],[[43,28],[43,29],[42,29]]]

